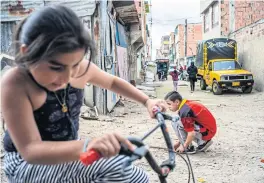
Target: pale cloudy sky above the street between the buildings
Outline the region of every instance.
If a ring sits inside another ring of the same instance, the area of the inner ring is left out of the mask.
[[[163,35],[173,32],[177,24],[184,23],[185,18],[188,18],[190,23],[201,22],[200,0],[151,0],[151,3],[152,58],[155,59],[156,48],[160,47]]]

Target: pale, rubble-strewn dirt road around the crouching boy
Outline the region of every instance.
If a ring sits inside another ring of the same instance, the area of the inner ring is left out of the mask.
[[[162,98],[172,90],[171,82],[163,84],[163,87],[157,89],[157,95]],[[264,93],[214,96],[208,91],[197,89],[191,94],[187,86],[180,86],[179,92],[187,99],[205,104],[217,119],[218,132],[210,150],[190,156],[196,182],[203,179],[207,183],[263,183],[264,163],[260,159],[264,158]],[[124,104],[125,107],[116,108],[111,117],[100,117],[99,121],[81,119],[81,137],[96,137],[113,131],[125,136],[141,137],[154,127],[156,121],[149,119],[141,105],[128,101]],[[170,132],[176,139],[172,128]],[[145,143],[164,147],[159,130],[146,139]],[[158,160],[167,157],[163,150],[151,151]],[[151,183],[158,182],[157,176],[145,160],[137,161],[136,164],[148,172]],[[168,177],[168,182],[187,182],[187,173],[187,166],[177,157],[176,168]]]

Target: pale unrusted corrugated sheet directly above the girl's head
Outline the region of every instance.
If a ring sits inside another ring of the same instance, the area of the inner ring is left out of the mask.
[[[63,4],[70,7],[79,17],[93,15],[96,2],[95,0],[50,0],[45,1],[45,6],[53,4]]]

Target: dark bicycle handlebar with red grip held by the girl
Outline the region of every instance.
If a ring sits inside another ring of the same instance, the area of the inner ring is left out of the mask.
[[[167,126],[165,124],[165,120],[177,122],[179,120],[179,117],[171,117],[167,114],[164,114],[159,110],[159,108],[153,108],[153,112],[158,121],[158,125],[141,139],[135,137],[128,137],[128,140],[132,144],[137,146],[137,148],[132,152],[128,148],[126,148],[126,146],[121,144],[119,154],[130,157],[127,161],[124,162],[124,167],[131,164],[135,160],[145,157],[151,168],[159,175],[161,183],[166,183],[166,177],[168,176],[169,172],[175,168],[175,153],[173,152],[173,145],[170,139]],[[158,127],[161,128],[169,153],[169,158],[165,160],[161,165],[158,165],[158,163],[155,161],[152,154],[148,150],[148,147],[143,143],[143,140],[147,138],[150,134],[152,134]],[[87,166],[99,160],[100,158],[102,158],[100,153],[93,149],[89,150],[88,152],[84,152],[80,155],[80,161]]]

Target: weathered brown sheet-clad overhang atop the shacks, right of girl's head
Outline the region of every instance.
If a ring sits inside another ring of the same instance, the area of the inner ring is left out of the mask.
[[[138,23],[138,12],[133,0],[113,1],[118,16],[125,24]]]

